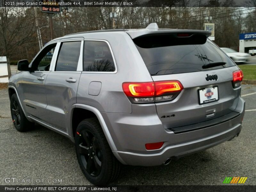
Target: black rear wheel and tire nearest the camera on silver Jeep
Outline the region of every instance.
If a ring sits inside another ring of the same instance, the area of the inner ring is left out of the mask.
[[[85,119],[77,126],[75,145],[80,168],[91,183],[107,185],[118,178],[121,164],[113,155],[97,118]]]

